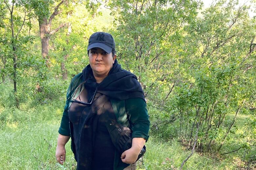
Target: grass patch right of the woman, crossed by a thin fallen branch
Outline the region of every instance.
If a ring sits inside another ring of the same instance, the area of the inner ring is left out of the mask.
[[[179,142],[158,142],[158,139],[150,139],[147,143],[147,154],[143,158],[141,169],[179,169],[181,162],[191,153],[184,151]],[[215,154],[194,153],[184,164],[183,169],[230,169],[234,168],[230,160],[221,161]]]

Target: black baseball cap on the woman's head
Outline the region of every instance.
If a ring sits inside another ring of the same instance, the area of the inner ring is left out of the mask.
[[[89,38],[87,51],[95,47],[101,48],[110,54],[112,49],[116,48],[116,44],[111,34],[106,32],[95,32]]]

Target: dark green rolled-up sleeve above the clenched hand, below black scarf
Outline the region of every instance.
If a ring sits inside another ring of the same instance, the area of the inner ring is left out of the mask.
[[[125,109],[132,125],[132,138],[144,138],[147,141],[150,121],[146,102],[142,98],[129,98],[125,100]]]

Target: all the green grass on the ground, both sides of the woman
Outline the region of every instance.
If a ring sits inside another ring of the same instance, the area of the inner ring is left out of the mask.
[[[10,96],[7,93],[8,88],[3,89],[1,84],[0,91],[0,99]],[[66,145],[65,164],[62,166],[55,160],[58,127],[65,101],[55,100],[49,104],[36,106],[27,101],[22,103],[19,109],[12,107],[11,102],[13,102],[11,99],[6,103],[0,101],[0,169],[75,169],[76,162],[70,149],[70,141]],[[236,123],[236,126],[242,125],[245,118],[239,116],[238,120],[241,123]],[[240,131],[238,128],[237,133],[241,133]],[[236,143],[235,139],[232,142]],[[143,161],[138,162],[138,169],[178,169],[191,152],[184,151],[176,139],[164,142],[154,136],[149,138],[146,146],[147,152]],[[231,151],[235,148],[236,145],[224,144],[222,151]],[[252,169],[255,166],[252,160],[255,158],[255,153],[255,148],[251,151],[241,149],[224,156],[214,151],[204,154],[195,152],[183,169],[241,169],[247,166],[246,161],[243,160],[246,155],[252,162],[249,165]]]

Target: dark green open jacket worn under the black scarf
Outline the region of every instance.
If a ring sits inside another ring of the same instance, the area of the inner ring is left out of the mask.
[[[71,80],[69,85],[66,105],[58,131],[61,135],[71,136],[68,109],[71,105],[71,97],[75,93],[77,86],[82,82],[82,73],[79,73]],[[117,123],[130,127],[133,130],[132,138],[144,138],[147,141],[150,122],[146,102],[141,98],[130,98],[126,100],[110,99],[110,101],[117,118]],[[71,149],[73,151],[72,143]],[[114,170],[123,170],[129,166],[129,164],[123,163],[120,157],[121,155],[116,150]]]

